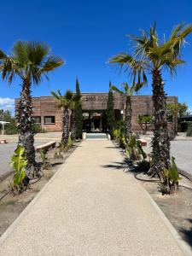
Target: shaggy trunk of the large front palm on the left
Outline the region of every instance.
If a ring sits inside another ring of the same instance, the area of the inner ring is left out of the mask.
[[[27,79],[24,79],[15,117],[19,132],[18,145],[25,148],[26,159],[28,161],[28,174],[34,175],[34,170],[32,173],[32,169],[36,169],[37,163],[35,161],[34,132],[32,129],[34,120],[32,118],[32,97],[30,89],[31,83]]]

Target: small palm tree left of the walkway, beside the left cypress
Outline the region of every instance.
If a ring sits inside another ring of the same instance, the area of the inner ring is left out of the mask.
[[[55,97],[58,102],[58,108],[63,112],[62,116],[62,137],[61,143],[66,146],[69,138],[69,129],[70,129],[70,111],[74,108],[74,96],[71,90],[67,90],[65,95],[61,95],[61,91],[57,92],[51,91],[52,96]]]

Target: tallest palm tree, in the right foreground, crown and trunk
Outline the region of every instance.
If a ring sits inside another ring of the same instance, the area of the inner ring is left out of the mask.
[[[166,93],[162,79],[162,69],[166,68],[171,74],[176,73],[176,67],[183,63],[181,60],[181,47],[185,43],[184,38],[192,32],[192,26],[180,24],[176,26],[168,40],[161,41],[156,26],[152,26],[149,32],[143,31],[141,37],[131,36],[135,44],[135,57],[143,62],[143,65],[152,73],[152,88],[154,102],[154,137],[153,162],[151,169],[153,175],[160,177],[164,168],[170,167],[170,139],[166,121]],[[168,184],[166,183],[168,186]]]

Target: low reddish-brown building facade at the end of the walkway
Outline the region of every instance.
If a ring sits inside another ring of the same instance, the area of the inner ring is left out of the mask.
[[[81,93],[83,110],[83,130],[87,132],[107,131],[106,109],[108,93]],[[151,115],[153,102],[151,96],[131,96],[132,102],[132,130],[142,131],[137,119],[139,115]],[[177,103],[177,97],[167,96],[167,103]],[[113,94],[116,120],[125,116],[125,96]],[[57,108],[53,96],[32,98],[35,123],[46,131],[61,131],[62,112]],[[172,130],[174,119],[169,119],[169,129]],[[153,129],[153,127],[149,127]]]

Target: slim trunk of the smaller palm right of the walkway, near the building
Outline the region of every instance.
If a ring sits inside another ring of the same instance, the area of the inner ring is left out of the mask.
[[[125,103],[125,141],[128,143],[131,137],[131,115],[132,115],[132,106],[131,106],[131,96],[126,96]]]

